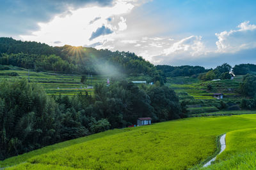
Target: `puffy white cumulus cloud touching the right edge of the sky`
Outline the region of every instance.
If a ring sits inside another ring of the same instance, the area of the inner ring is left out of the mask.
[[[256,48],[256,25],[250,24],[249,21],[242,22],[236,30],[223,31],[215,35],[218,38],[217,52],[235,53]]]

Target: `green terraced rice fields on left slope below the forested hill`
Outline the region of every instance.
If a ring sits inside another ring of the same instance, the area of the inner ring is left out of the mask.
[[[8,76],[10,73],[17,73],[18,76]],[[67,95],[72,96],[79,92],[88,92],[93,94],[93,87],[96,83],[102,81],[107,82],[106,76],[92,76],[81,83],[81,76],[79,74],[56,74],[47,72],[33,72],[28,70],[4,70],[0,71],[0,80],[6,79],[13,81],[17,78],[27,78],[32,83],[38,83],[44,87],[48,95]]]

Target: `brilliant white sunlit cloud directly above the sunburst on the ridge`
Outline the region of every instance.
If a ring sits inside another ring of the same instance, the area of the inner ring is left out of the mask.
[[[104,39],[115,37],[118,31],[127,29],[126,20],[120,15],[130,13],[137,4],[136,0],[116,0],[113,6],[87,6],[78,10],[68,9],[69,15],[64,17],[58,15],[51,22],[38,23],[39,31],[33,32],[32,35],[20,35],[20,37],[24,40],[40,41],[49,45],[56,45],[52,43],[54,41],[61,41],[58,45],[75,46],[99,43]],[[113,16],[120,16],[121,21],[119,23],[109,22],[108,18],[113,18]],[[108,27],[113,33],[102,34],[92,39],[92,33],[102,26]],[[116,29],[117,27],[118,29]]]

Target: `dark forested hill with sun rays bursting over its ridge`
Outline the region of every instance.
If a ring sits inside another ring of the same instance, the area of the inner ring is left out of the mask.
[[[131,52],[111,52],[83,46],[49,46],[44,43],[0,38],[0,64],[62,73],[124,73],[157,76],[160,71]],[[104,69],[102,69],[104,68]]]

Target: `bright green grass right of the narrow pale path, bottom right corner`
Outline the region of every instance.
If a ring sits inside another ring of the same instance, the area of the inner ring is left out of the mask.
[[[255,120],[253,115],[237,117]],[[256,168],[256,128],[242,129],[227,133],[227,148],[215,164],[205,169],[255,169]]]

